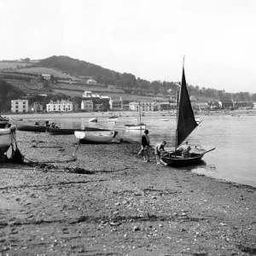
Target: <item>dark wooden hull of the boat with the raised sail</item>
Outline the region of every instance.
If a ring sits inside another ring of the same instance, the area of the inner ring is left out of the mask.
[[[160,162],[165,166],[191,166],[198,164],[203,156],[204,154],[191,153],[190,157],[183,158],[180,155],[170,154],[168,157],[162,157]]]

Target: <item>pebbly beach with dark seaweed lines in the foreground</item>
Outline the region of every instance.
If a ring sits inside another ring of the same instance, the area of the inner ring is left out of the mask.
[[[143,163],[118,140],[17,131],[41,164],[0,163],[0,255],[256,254],[255,188]]]

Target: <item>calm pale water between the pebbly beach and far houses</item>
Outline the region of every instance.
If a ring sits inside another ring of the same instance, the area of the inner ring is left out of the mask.
[[[118,114],[118,113],[116,113]],[[129,131],[123,125],[136,123],[135,113],[119,113],[119,121],[116,124],[108,123],[108,113],[97,113],[85,116],[83,113],[55,114],[29,116],[31,120],[49,119],[55,121],[61,128],[79,128],[81,125],[95,126],[119,131],[119,137],[141,141],[143,131]],[[170,113],[145,113],[143,123],[147,124],[149,137],[152,144],[166,140],[166,149],[174,146],[176,117]],[[129,115],[129,116],[127,116]],[[97,123],[89,123],[91,117],[98,117]],[[161,121],[160,119],[168,119]],[[205,174],[210,177],[224,179],[226,181],[248,184],[256,187],[256,116],[240,115],[231,116],[215,113],[207,116],[201,115],[203,119],[192,135],[189,143],[192,147],[201,145],[208,150],[216,148],[205,154],[203,160],[205,165],[191,167],[192,172]]]

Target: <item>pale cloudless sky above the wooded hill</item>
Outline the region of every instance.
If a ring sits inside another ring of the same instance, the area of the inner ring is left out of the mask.
[[[67,55],[148,81],[256,93],[255,0],[8,0],[0,60]]]

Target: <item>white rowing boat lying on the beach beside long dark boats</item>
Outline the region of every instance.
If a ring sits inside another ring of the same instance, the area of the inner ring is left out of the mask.
[[[117,131],[75,131],[75,137],[86,143],[110,143]]]

